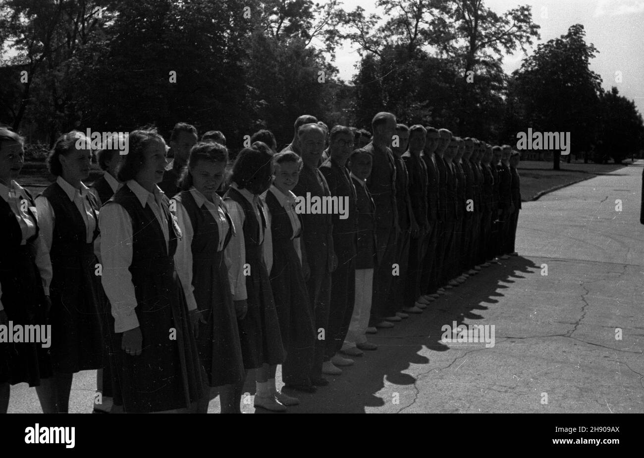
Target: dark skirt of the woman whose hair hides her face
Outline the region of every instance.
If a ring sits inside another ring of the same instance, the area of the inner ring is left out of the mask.
[[[274,365],[283,362],[284,348],[266,266],[263,261],[248,255],[246,262],[251,268],[251,275],[246,277],[248,313],[238,324],[243,363],[249,370],[264,363]]]

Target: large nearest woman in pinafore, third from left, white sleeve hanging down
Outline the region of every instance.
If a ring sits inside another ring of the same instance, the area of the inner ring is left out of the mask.
[[[204,377],[173,255],[181,236],[169,199],[156,186],[166,143],[154,130],[129,134],[118,178],[102,207],[101,277],[115,318],[115,376],[125,412],[188,412]]]

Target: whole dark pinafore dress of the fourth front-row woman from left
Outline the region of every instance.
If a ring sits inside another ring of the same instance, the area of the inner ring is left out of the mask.
[[[244,376],[242,347],[237,315],[232,303],[228,268],[223,250],[233,234],[233,225],[225,205],[220,205],[229,224],[222,251],[218,251],[218,223],[211,212],[199,208],[190,191],[175,199],[185,208],[193,226],[194,300],[207,323],[199,324],[197,347],[211,387],[239,383]]]

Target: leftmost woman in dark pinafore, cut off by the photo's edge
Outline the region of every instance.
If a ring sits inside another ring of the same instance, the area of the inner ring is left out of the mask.
[[[51,266],[42,256],[33,197],[14,181],[23,155],[23,139],[0,128],[0,325],[11,320],[14,325],[43,326],[49,298],[38,264],[43,270]],[[41,333],[40,342],[0,342],[0,414],[7,412],[10,385],[26,382],[33,387],[52,375],[46,354],[50,339],[51,333]]]

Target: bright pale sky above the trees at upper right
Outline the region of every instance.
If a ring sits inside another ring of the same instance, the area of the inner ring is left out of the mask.
[[[375,0],[343,3],[347,11],[362,6],[366,12],[383,15],[375,8]],[[532,6],[533,21],[541,26],[541,40],[535,42],[535,47],[564,35],[573,24],[583,24],[586,42],[600,51],[591,60],[591,69],[601,76],[604,89],[616,86],[644,114],[644,0],[484,0],[484,5],[497,14],[518,5]],[[523,58],[523,51],[506,56],[506,73],[519,68]],[[350,46],[337,51],[336,66],[341,78],[349,80],[354,75],[357,60],[359,56]],[[621,82],[616,82],[616,71],[621,71]]]

